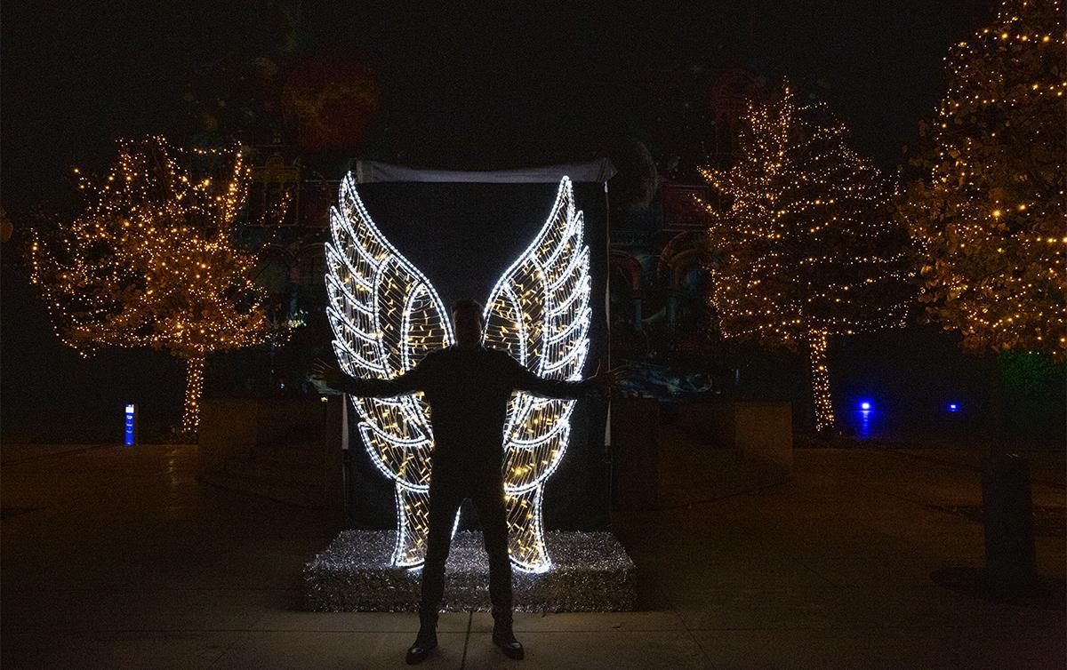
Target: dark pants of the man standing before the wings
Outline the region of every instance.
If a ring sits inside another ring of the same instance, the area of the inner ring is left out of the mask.
[[[489,554],[489,597],[493,603],[493,618],[498,623],[510,624],[511,561],[500,468],[471,469],[436,463],[430,476],[430,528],[423,565],[419,620],[423,625],[436,624],[445,591],[445,561],[451,544],[452,524],[464,498],[474,503],[481,522],[485,553]]]

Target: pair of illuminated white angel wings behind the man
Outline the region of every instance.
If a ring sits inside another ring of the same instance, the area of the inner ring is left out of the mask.
[[[327,314],[334,350],[348,374],[389,379],[452,342],[451,324],[430,282],[389,243],[360,201],[351,175],[331,209]],[[535,373],[582,379],[589,353],[589,246],[571,180],[563,177],[537,237],[508,268],[485,305],[485,346],[508,351]],[[504,429],[509,553],[515,568],[551,567],[541,500],[567,450],[575,400],[512,395]],[[360,434],[375,464],[396,484],[395,565],[426,555],[433,433],[421,394],[352,398]],[[455,529],[455,528],[453,528]]]

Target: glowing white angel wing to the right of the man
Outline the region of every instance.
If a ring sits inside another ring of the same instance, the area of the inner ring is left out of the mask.
[[[563,177],[541,230],[505,271],[485,306],[485,345],[508,351],[547,379],[582,379],[589,353],[589,245],[583,228],[571,180]],[[547,567],[541,484],[567,449],[574,403],[523,392],[512,395],[509,403],[504,483],[511,553],[516,564],[530,570]]]

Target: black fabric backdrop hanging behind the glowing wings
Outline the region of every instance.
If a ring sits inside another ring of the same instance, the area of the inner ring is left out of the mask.
[[[466,177],[464,182],[357,185],[371,219],[394,246],[433,284],[446,308],[461,298],[474,298],[481,303],[489,300],[496,281],[544,224],[559,188],[558,179],[508,184],[473,181],[471,173],[463,176]],[[520,178],[529,178],[529,175],[524,173]],[[601,181],[575,181],[573,186],[575,204],[585,221],[592,274],[593,319],[584,371],[589,377],[599,362],[605,367],[608,364],[605,314],[607,193]],[[607,403],[603,399],[578,401],[571,418],[567,453],[545,484],[543,510],[548,530],[606,527],[606,417]],[[355,430],[354,411],[349,412],[349,418],[350,524],[360,528],[395,527],[393,483],[378,472],[363,448]],[[461,527],[476,528],[476,513],[466,504]]]

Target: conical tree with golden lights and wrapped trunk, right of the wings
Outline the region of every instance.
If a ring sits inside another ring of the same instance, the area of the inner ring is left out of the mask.
[[[786,86],[749,105],[736,162],[702,171],[721,196],[704,204],[718,328],[807,350],[819,432],[834,426],[830,338],[903,325],[909,292],[893,189],[847,140],[824,103]]]

